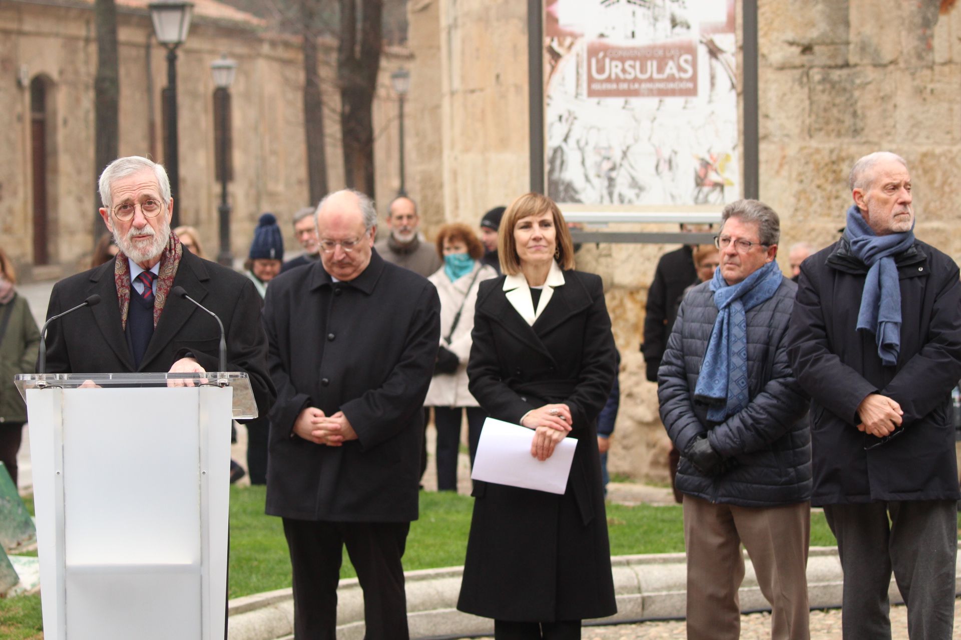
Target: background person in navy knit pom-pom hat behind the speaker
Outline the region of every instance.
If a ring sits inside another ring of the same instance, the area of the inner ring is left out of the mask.
[[[283,266],[283,234],[277,225],[277,217],[272,213],[260,216],[254,229],[254,242],[244,262],[244,273],[254,283],[260,297],[267,295],[267,285]],[[261,414],[247,422],[247,471],[251,485],[267,484],[267,441],[270,438],[270,420]],[[233,462],[233,461],[231,461]],[[231,478],[234,474],[242,476],[231,465]]]

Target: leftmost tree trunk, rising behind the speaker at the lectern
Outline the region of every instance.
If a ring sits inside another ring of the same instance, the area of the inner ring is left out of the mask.
[[[117,71],[117,10],[113,0],[95,0],[93,20],[97,30],[97,75],[93,82],[94,103],[94,179],[117,156],[120,82]],[[94,202],[100,194],[94,185]],[[102,230],[99,216],[94,216],[93,242]]]

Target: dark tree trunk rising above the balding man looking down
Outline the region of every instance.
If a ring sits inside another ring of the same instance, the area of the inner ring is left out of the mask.
[[[374,197],[374,123],[383,0],[340,0],[340,131],[347,186]]]

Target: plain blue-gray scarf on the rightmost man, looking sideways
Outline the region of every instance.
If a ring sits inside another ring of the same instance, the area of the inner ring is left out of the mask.
[[[914,223],[910,231],[875,235],[856,204],[848,209],[844,237],[855,258],[868,266],[857,312],[858,331],[875,334],[881,362],[894,367],[900,352],[900,282],[894,256],[914,246]]]

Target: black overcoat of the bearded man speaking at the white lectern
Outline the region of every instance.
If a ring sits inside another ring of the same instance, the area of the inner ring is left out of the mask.
[[[168,296],[140,367],[135,369],[120,323],[113,270],[114,260],[109,260],[54,285],[47,318],[93,294],[98,294],[101,301],[50,324],[48,373],[160,373],[169,371],[186,352],[193,353],[208,371],[219,368],[220,329],[216,320],[189,300]],[[220,317],[227,333],[227,368],[250,376],[258,411],[265,415],[276,392],[267,373],[267,339],[260,323],[262,302],[254,284],[240,273],[184,249],[173,281],[173,287],[177,286]]]

